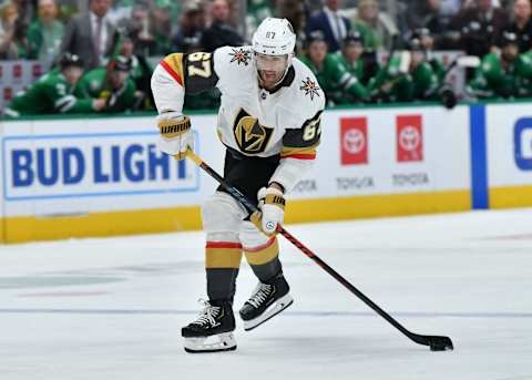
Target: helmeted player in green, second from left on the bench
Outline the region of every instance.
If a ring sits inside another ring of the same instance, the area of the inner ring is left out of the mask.
[[[132,59],[117,55],[111,68],[101,66],[86,72],[78,82],[74,94],[82,99],[102,99],[105,112],[122,112],[136,101],[135,82],[130,78]]]

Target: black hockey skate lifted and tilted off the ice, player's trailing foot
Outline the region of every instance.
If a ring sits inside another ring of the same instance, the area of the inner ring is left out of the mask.
[[[288,294],[289,290],[283,274],[267,284],[258,283],[254,294],[241,309],[244,330],[253,330],[290,306],[294,299]]]

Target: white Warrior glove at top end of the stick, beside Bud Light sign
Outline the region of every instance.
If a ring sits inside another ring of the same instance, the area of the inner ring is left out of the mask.
[[[186,157],[186,150],[194,148],[194,135],[191,120],[177,112],[162,113],[157,116],[161,138],[158,148],[177,160]]]

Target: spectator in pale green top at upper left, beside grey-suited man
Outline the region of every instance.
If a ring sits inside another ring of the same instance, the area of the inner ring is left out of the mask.
[[[54,0],[39,0],[38,14],[39,18],[28,29],[29,58],[49,68],[59,54],[64,25],[58,20]]]

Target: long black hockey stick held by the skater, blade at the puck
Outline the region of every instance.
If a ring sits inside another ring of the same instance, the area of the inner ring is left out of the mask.
[[[194,161],[197,166],[204,170],[211,177],[216,179],[222,187],[229,193],[236,201],[242,203],[244,207],[246,207],[250,213],[259,212],[258,207],[255,206],[244,194],[242,194],[237,188],[231,186],[218,173],[216,173],[211,166],[208,166],[202,158],[200,158],[192,150],[186,152],[186,156]],[[349,291],[351,291],[355,296],[361,299],[366,305],[368,305],[371,309],[374,309],[379,316],[385,318],[388,322],[390,322],[395,328],[406,335],[408,338],[413,340],[416,343],[429,346],[431,351],[444,351],[444,350],[452,350],[452,341],[449,337],[440,337],[440,336],[423,336],[411,332],[407,330],[402,325],[400,325],[397,320],[395,320],[390,315],[388,315],[385,310],[382,310],[377,304],[375,304],[371,299],[366,297],[360,290],[358,290],[352,284],[350,284],[347,279],[345,279],[340,274],[338,274],[335,269],[329,267],[324,260],[321,260],[318,256],[316,256],[310,249],[308,249],[303,243],[300,243],[297,238],[295,238],[290,233],[288,233],[284,227],[279,226],[278,232],[280,235],[286,237],[288,242],[294,244],[297,248],[299,248],[307,257],[311,258],[317,265],[319,265],[325,271],[327,271],[330,276],[332,276],[338,283],[344,285]]]

